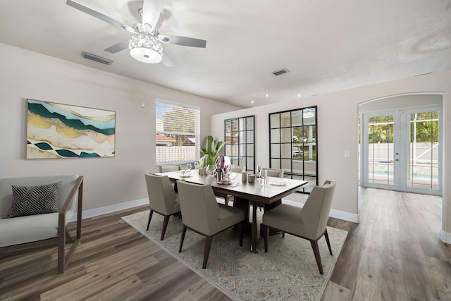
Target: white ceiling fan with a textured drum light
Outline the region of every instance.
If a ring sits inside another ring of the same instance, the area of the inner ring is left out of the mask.
[[[143,0],[142,8],[139,11],[140,16],[142,16],[142,22],[135,23],[132,27],[96,11],[95,8],[82,4],[80,1],[67,0],[66,4],[132,33],[128,41],[114,44],[106,48],[105,51],[115,54],[118,51],[128,48],[132,58],[137,61],[141,61],[142,63],[159,63],[162,61],[165,66],[169,67],[173,66],[174,63],[167,54],[163,53],[161,43],[205,48],[206,41],[204,39],[180,37],[177,35],[160,35],[156,26],[160,18],[162,2],[163,0]]]

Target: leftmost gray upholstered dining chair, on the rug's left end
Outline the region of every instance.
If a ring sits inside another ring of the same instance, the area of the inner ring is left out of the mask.
[[[147,194],[149,195],[150,212],[147,221],[147,231],[154,212],[164,216],[161,238],[163,240],[166,228],[168,228],[169,217],[180,213],[180,202],[178,195],[173,190],[171,180],[168,176],[156,176],[152,173],[144,174],[146,178]]]

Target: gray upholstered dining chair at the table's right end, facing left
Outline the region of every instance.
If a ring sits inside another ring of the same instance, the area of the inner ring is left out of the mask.
[[[332,255],[327,233],[327,221],[334,190],[335,182],[326,180],[323,186],[315,186],[311,190],[304,207],[299,208],[281,204],[271,211],[265,212],[263,214],[265,252],[268,252],[269,227],[283,231],[283,235],[286,232],[299,238],[305,238],[310,241],[319,273],[323,274],[318,240],[324,235],[330,255]]]

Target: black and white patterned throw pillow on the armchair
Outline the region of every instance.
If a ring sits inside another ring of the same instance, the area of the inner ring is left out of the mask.
[[[13,185],[13,202],[6,219],[58,212],[58,189],[60,185],[61,182],[28,187]]]

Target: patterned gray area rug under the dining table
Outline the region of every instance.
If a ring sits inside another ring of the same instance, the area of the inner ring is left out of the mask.
[[[238,231],[230,228],[214,236],[208,264],[202,269],[204,236],[188,229],[179,253],[182,219],[171,216],[161,241],[163,216],[154,214],[146,231],[148,218],[149,211],[143,211],[124,216],[123,220],[233,300],[321,300],[347,236],[346,231],[328,227],[333,256],[326,239],[319,240],[324,270],[321,275],[308,240],[289,234],[285,238],[270,235],[268,252],[264,252],[261,238],[259,253],[253,253],[249,251],[250,237],[244,235],[240,247]]]

